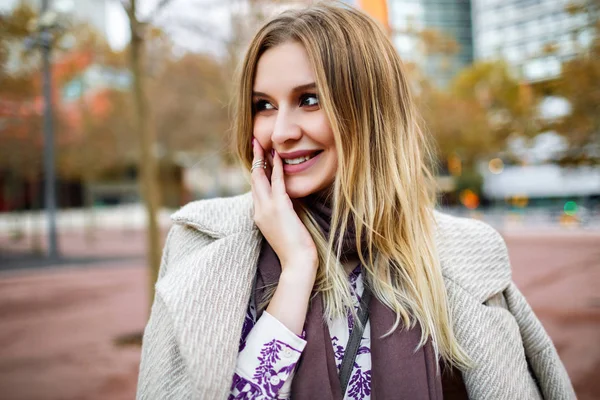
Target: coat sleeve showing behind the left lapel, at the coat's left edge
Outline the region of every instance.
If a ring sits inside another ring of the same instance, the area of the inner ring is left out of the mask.
[[[169,240],[166,240],[160,265],[159,279],[168,269]],[[166,305],[156,293],[150,318],[142,341],[142,355],[138,377],[138,400],[185,400],[192,398],[191,383],[175,339],[173,323]]]

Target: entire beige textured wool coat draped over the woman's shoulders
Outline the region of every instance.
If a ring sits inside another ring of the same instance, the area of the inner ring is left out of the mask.
[[[488,225],[436,213],[437,249],[471,399],[573,399],[552,341]],[[173,215],[142,348],[138,399],[225,399],[262,236],[249,194]]]

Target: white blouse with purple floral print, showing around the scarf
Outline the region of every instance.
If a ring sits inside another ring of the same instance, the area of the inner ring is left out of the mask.
[[[363,291],[359,267],[349,279],[358,309]],[[250,297],[229,399],[289,399],[296,364],[306,341],[266,311],[256,321],[254,296]],[[339,371],[354,321],[348,315],[347,318],[330,320],[328,325]],[[370,332],[367,321],[344,400],[371,398]]]

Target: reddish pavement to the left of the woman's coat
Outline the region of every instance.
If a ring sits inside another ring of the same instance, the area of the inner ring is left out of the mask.
[[[135,398],[147,274],[98,264],[0,277],[0,393],[7,400]]]

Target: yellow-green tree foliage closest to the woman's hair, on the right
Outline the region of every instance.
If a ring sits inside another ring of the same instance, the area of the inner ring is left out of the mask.
[[[418,37],[430,56],[457,51],[451,38],[439,33],[425,31]],[[420,109],[436,140],[438,158],[454,175],[473,172],[478,161],[505,150],[510,137],[531,137],[538,130],[533,91],[502,61],[476,62],[448,87],[434,85],[415,65],[411,75],[418,79]]]

